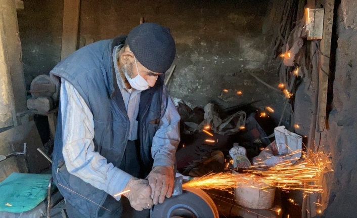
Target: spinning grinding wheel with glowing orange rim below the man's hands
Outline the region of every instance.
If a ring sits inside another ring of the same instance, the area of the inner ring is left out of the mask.
[[[183,188],[182,195],[166,198],[153,208],[153,218],[218,218],[212,198],[201,189]]]

